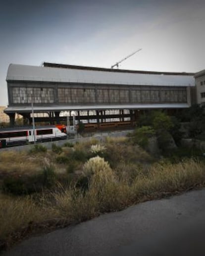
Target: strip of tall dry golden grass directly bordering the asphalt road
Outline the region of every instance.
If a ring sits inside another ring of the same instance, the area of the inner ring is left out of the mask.
[[[126,172],[119,176],[106,166],[90,176],[86,191],[75,185],[59,185],[38,201],[32,197],[1,196],[1,239],[31,222],[58,219],[66,224],[77,223],[140,201],[205,185],[205,164],[193,159],[178,164],[160,162],[134,172],[133,178],[127,179]]]

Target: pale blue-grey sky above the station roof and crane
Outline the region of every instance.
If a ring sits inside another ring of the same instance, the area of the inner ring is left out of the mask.
[[[0,0],[0,106],[9,64],[205,69],[205,0]]]

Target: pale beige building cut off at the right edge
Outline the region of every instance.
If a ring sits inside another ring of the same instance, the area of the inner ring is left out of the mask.
[[[205,69],[195,74],[195,83],[197,88],[197,103],[205,104]]]

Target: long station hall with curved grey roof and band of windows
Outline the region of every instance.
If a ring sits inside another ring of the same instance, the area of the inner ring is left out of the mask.
[[[151,72],[44,63],[10,64],[7,71],[8,107],[4,112],[14,125],[15,113],[31,122],[34,113],[47,113],[60,122],[61,111],[77,111],[82,118],[106,120],[107,110],[119,110],[121,120],[136,120],[139,111],[179,110],[196,103],[194,73]],[[126,110],[128,114],[124,114]],[[80,111],[87,111],[85,117]],[[89,111],[92,111],[90,116]],[[94,113],[94,114],[93,114]],[[100,117],[99,117],[100,116]]]

